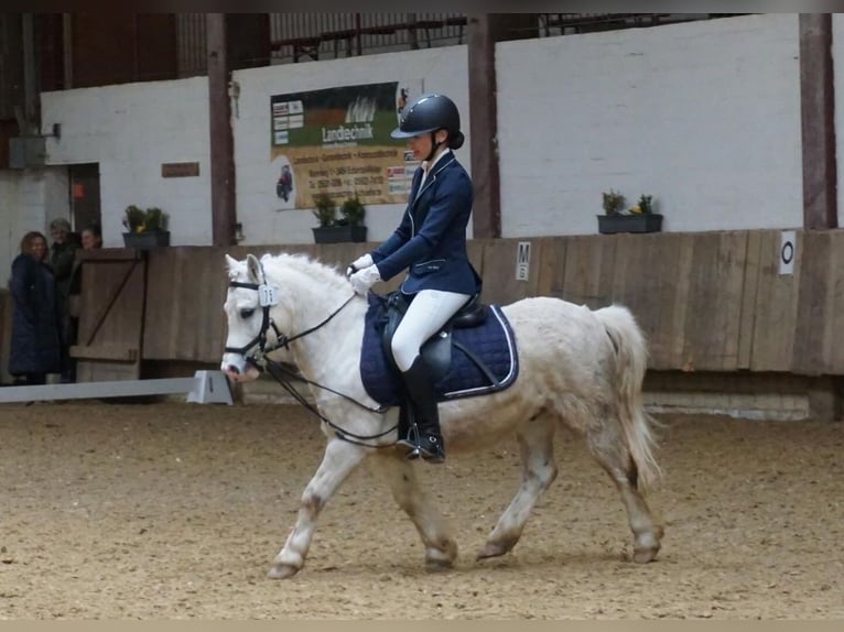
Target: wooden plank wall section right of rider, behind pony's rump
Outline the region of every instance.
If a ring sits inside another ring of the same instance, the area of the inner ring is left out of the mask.
[[[844,231],[798,231],[792,275],[780,231],[532,240],[531,277],[515,280],[517,240],[484,253],[489,299],[547,294],[592,308],[621,303],[650,342],[650,369],[844,374],[834,348],[844,299]]]

